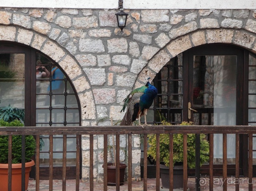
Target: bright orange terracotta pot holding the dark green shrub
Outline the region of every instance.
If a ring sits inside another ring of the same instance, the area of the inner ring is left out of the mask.
[[[25,190],[28,189],[29,185],[29,173],[31,167],[35,165],[35,162],[31,160],[25,163]],[[21,163],[12,164],[12,175],[11,175],[11,190],[21,191]],[[8,164],[0,164],[0,185],[1,191],[8,191]]]

